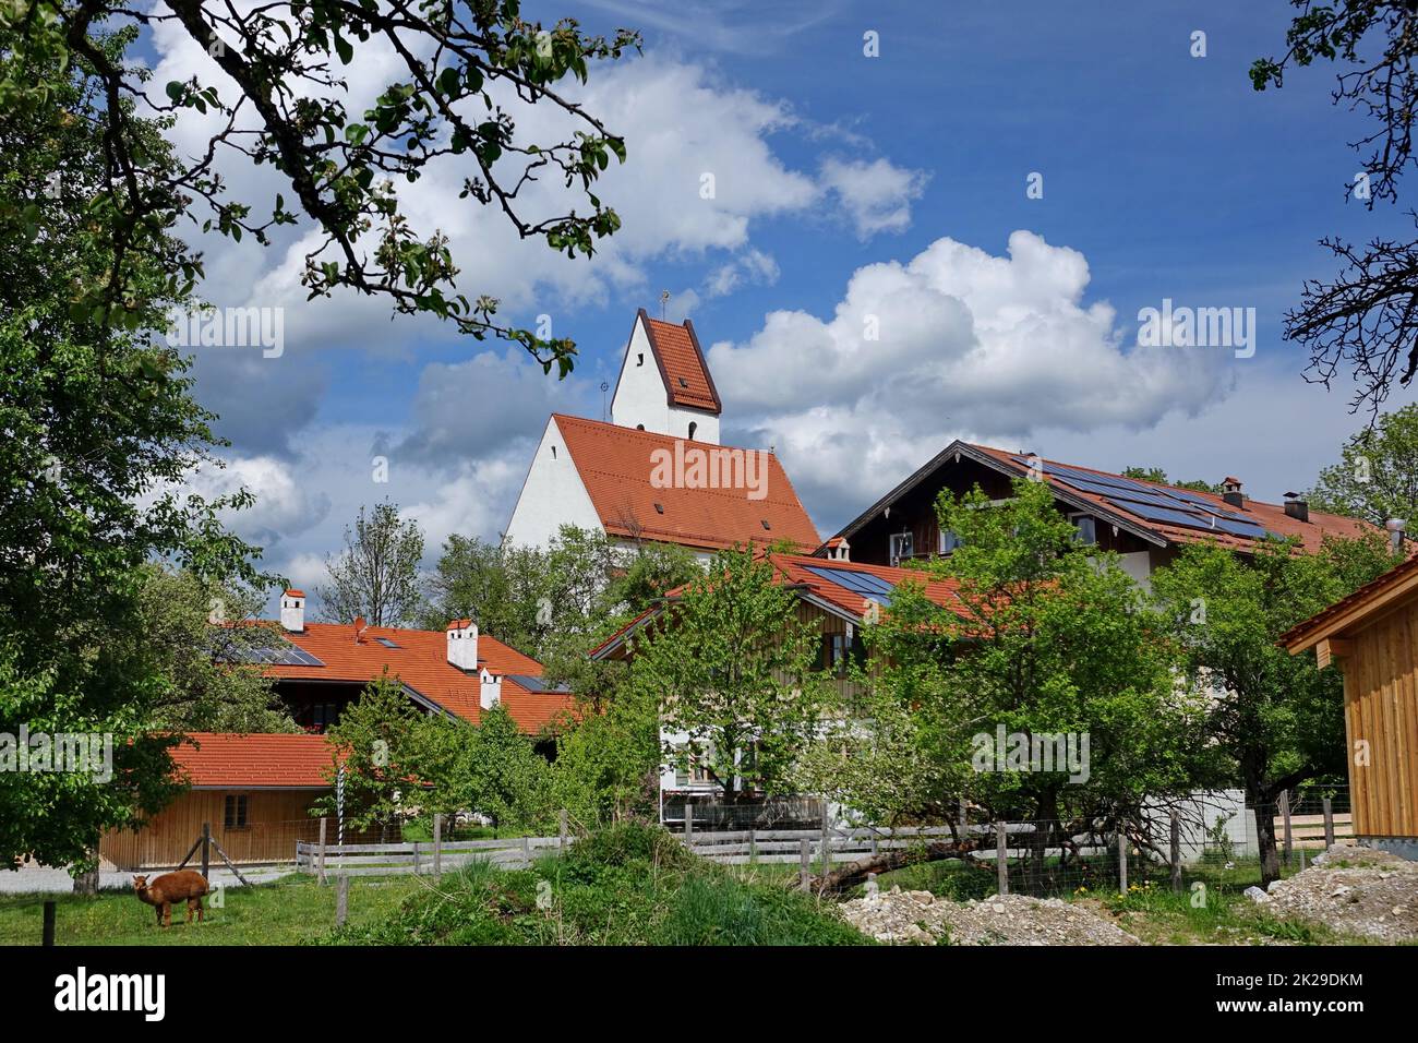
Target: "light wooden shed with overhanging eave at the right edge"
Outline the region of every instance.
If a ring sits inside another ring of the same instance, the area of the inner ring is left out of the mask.
[[[1418,859],[1418,558],[1280,637],[1344,673],[1354,836]]]

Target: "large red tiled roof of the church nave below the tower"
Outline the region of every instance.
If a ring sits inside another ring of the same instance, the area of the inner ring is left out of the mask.
[[[801,551],[813,551],[821,542],[783,464],[771,453],[683,443],[686,450],[761,453],[767,463],[763,500],[750,500],[742,488],[655,488],[651,485],[652,454],[655,450],[672,454],[675,443],[683,440],[564,413],[553,413],[552,419],[601,525],[611,535],[702,549],[787,539]]]

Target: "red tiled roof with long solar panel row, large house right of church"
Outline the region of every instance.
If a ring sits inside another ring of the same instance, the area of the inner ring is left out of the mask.
[[[1021,456],[1018,453],[1008,453],[1005,450],[994,448],[991,446],[971,446],[971,448],[984,453],[998,463],[1001,463],[1007,470],[1022,474],[1028,468],[1022,464],[1015,463],[1015,457]],[[1082,471],[1085,474],[1098,474],[1106,478],[1119,478],[1122,475],[1113,474],[1110,471],[1099,471],[1092,467],[1079,467],[1078,464],[1068,464],[1061,460],[1042,460],[1045,465],[1058,464],[1059,467],[1069,467],[1075,471]],[[1254,539],[1246,536],[1236,536],[1228,532],[1211,531],[1211,529],[1194,529],[1185,525],[1167,525],[1164,522],[1151,521],[1141,515],[1136,515],[1126,509],[1126,501],[1110,501],[1100,495],[1089,492],[1086,490],[1075,488],[1066,481],[1061,481],[1058,477],[1045,474],[1045,478],[1051,485],[1064,490],[1078,500],[1085,501],[1092,507],[1098,507],[1103,517],[1107,515],[1122,515],[1126,521],[1130,521],[1139,528],[1150,529],[1151,532],[1163,536],[1164,539],[1174,543],[1200,543],[1204,541],[1215,541],[1221,546],[1228,546],[1239,551],[1249,551]],[[1310,519],[1302,522],[1297,518],[1292,518],[1285,512],[1285,507],[1280,504],[1263,504],[1259,500],[1246,500],[1244,507],[1232,507],[1225,500],[1214,492],[1198,492],[1197,490],[1183,490],[1178,485],[1167,485],[1164,482],[1146,481],[1143,478],[1133,478],[1133,481],[1140,481],[1143,485],[1151,485],[1159,490],[1177,490],[1178,492],[1185,492],[1187,495],[1194,495],[1205,500],[1208,504],[1214,504],[1221,511],[1234,511],[1246,517],[1246,521],[1261,525],[1268,532],[1273,532],[1280,536],[1299,536],[1300,545],[1306,551],[1319,551],[1320,541],[1326,535],[1332,536],[1346,536],[1354,538],[1361,536],[1368,532],[1374,532],[1374,526],[1367,522],[1356,521],[1354,518],[1343,518],[1337,514],[1324,514],[1322,511],[1310,511]],[[1235,481],[1234,478],[1227,478],[1227,481]]]

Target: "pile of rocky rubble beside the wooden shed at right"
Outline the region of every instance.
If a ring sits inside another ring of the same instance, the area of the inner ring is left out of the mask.
[[[1388,851],[1334,844],[1303,873],[1246,894],[1280,920],[1374,941],[1418,941],[1418,863]]]

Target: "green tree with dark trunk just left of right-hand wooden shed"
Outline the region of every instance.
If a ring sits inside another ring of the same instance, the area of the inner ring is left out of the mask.
[[[1249,556],[1191,543],[1151,576],[1193,688],[1208,697],[1197,741],[1225,756],[1246,803],[1265,809],[1256,824],[1266,884],[1280,873],[1271,806],[1302,782],[1346,771],[1343,678],[1276,641],[1392,563],[1380,535],[1327,538],[1319,553],[1282,541],[1262,541]]]

